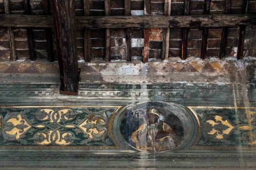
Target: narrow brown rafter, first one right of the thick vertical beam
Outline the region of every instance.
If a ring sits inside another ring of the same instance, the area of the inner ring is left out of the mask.
[[[90,0],[83,0],[83,12],[84,16],[90,15]],[[86,62],[91,61],[90,58],[90,29],[84,29],[84,60]]]

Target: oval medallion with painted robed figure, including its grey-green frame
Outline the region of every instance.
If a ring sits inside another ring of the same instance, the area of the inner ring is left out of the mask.
[[[198,136],[198,117],[174,103],[144,102],[124,107],[115,116],[114,137],[122,148],[142,152],[177,151]]]

